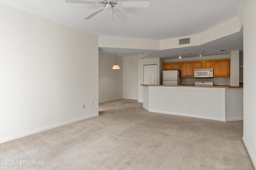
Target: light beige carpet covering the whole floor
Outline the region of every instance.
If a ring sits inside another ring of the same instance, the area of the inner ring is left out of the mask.
[[[1,169],[254,170],[242,143],[243,121],[151,113],[126,99],[101,103],[99,111],[1,144],[0,160],[35,161]]]

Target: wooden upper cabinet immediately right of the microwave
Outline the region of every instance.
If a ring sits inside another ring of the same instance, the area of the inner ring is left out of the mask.
[[[230,77],[230,59],[213,61],[214,77]]]

